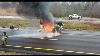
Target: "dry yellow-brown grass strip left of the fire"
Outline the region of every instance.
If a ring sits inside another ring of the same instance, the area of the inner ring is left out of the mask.
[[[0,26],[33,27],[37,23],[38,20],[0,19]]]

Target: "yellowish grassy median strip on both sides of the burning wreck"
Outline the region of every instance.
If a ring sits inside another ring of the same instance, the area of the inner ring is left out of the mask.
[[[67,21],[63,22],[65,29],[76,29],[76,30],[89,30],[89,31],[100,31],[100,24],[93,24],[90,22],[80,21]],[[15,25],[16,27],[36,27],[39,26],[38,20],[18,20],[18,19],[0,19],[0,26]]]

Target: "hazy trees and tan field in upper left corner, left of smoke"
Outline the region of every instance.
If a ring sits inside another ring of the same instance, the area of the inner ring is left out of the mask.
[[[15,16],[18,2],[0,2],[0,16]]]

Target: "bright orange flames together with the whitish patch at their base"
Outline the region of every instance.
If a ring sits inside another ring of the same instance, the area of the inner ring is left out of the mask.
[[[47,21],[47,20],[40,20],[41,23],[41,28],[42,28],[42,32],[44,33],[43,35],[46,38],[52,38],[54,36],[59,36],[60,33],[58,33],[57,31],[53,32],[54,30],[54,24]],[[44,37],[42,37],[44,38]]]

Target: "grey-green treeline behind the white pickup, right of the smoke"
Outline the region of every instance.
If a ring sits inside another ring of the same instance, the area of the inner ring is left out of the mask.
[[[50,11],[55,17],[79,14],[84,17],[100,18],[100,2],[53,2]]]

